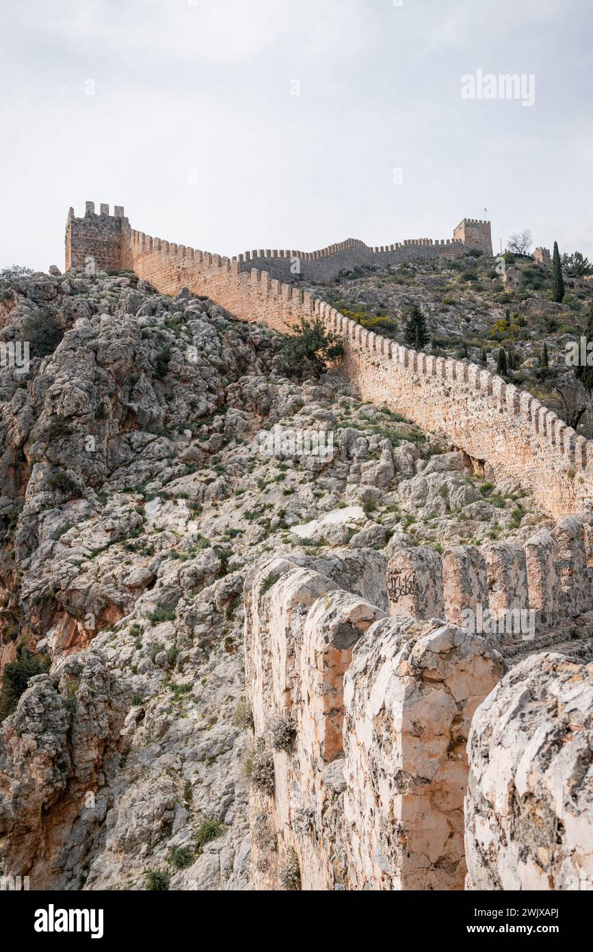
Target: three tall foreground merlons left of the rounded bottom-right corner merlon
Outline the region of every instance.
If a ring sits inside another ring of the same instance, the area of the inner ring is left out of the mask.
[[[254,744],[273,775],[251,786],[252,886],[287,888],[293,863],[307,891],[462,889],[469,724],[504,663],[309,562],[268,559],[245,581]]]

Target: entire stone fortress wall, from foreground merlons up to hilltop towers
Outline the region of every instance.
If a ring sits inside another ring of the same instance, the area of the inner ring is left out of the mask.
[[[591,445],[488,371],[395,345],[283,283],[292,252],[231,261],[133,231],[119,210],[108,224],[104,208],[83,225],[68,217],[72,267],[117,261],[163,293],[188,287],[281,331],[317,316],[343,339],[363,399],[446,433],[562,520],[525,545],[453,546],[442,557],[414,547],[389,565],[372,550],[340,550],[252,569],[253,886],[579,888],[592,862],[590,668],[539,654],[506,674],[514,639],[499,653],[458,623],[468,607],[527,607],[539,637],[591,610]],[[484,224],[465,220],[452,253]],[[367,253],[359,243],[326,251],[312,267],[355,267]],[[414,585],[402,599],[403,576]]]

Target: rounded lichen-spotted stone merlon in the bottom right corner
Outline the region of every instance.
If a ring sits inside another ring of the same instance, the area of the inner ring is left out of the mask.
[[[468,889],[593,889],[593,665],[517,664],[476,711]]]

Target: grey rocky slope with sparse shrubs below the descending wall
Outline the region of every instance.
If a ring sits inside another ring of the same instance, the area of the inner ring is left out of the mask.
[[[426,304],[414,268],[405,288],[333,289],[369,313]],[[459,307],[486,335],[469,285]],[[431,332],[452,337],[455,313]],[[40,889],[248,888],[247,570],[290,552],[355,575],[394,546],[525,540],[545,518],[362,404],[339,367],[303,376],[278,334],[186,290],[19,278],[0,285],[0,337],[31,357],[0,370],[3,870]],[[330,451],[303,454],[303,431]]]

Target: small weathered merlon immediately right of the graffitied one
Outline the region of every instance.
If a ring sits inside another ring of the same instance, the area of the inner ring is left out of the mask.
[[[473,545],[451,545],[443,554],[445,619],[467,622],[467,612],[488,605],[488,573],[484,556]]]

